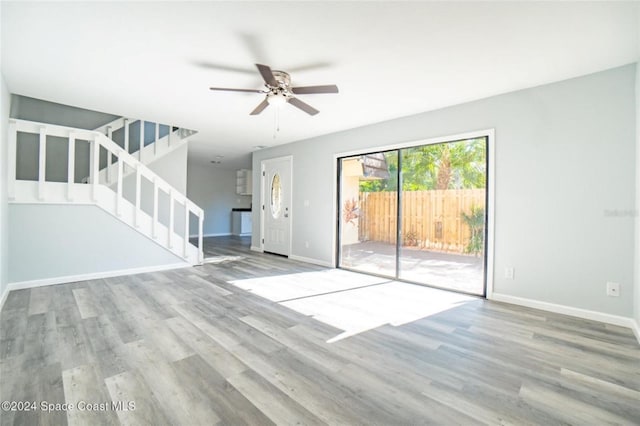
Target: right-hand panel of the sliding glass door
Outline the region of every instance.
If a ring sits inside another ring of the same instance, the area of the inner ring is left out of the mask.
[[[485,138],[401,153],[398,278],[484,294]]]

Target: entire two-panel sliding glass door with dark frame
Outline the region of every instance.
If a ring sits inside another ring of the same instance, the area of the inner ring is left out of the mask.
[[[339,162],[340,267],[485,294],[487,138]]]

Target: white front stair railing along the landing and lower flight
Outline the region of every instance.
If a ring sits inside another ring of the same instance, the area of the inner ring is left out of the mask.
[[[38,135],[37,181],[19,180],[16,178],[18,132]],[[53,182],[47,181],[46,179],[48,136],[68,139],[66,182]],[[90,173],[88,185],[75,183],[76,141],[85,141],[89,144]],[[115,189],[111,189],[106,185],[110,179],[101,178],[100,159],[101,152],[104,151],[106,151],[107,164],[113,163],[116,167],[117,184],[115,185]],[[190,260],[192,263],[202,263],[203,210],[102,133],[11,119],[9,120],[8,155],[9,180],[7,192],[10,202],[73,203],[85,201],[84,198],[88,197],[91,202],[108,210],[114,216],[120,218],[120,220],[138,229],[149,238],[154,239],[179,256]],[[135,172],[135,201],[133,202],[125,199],[123,194],[125,168],[130,168]],[[141,205],[143,178],[153,185],[153,209],[151,215],[148,215]],[[17,193],[17,188],[21,190],[20,193]],[[169,219],[167,225],[163,225],[159,220],[158,204],[160,192],[164,192],[169,198]],[[182,235],[175,232],[176,223],[178,223],[176,221],[176,204],[184,208],[184,229]],[[192,214],[198,219],[197,247],[189,242],[190,215]],[[162,232],[163,237],[160,236],[161,229],[164,231]],[[176,242],[180,243],[182,247],[178,247]]]

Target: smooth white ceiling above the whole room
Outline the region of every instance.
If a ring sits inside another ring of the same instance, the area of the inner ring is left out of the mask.
[[[254,146],[536,86],[638,60],[637,2],[2,3],[12,93],[199,131],[190,158],[249,166]],[[274,108],[255,63],[321,111]]]

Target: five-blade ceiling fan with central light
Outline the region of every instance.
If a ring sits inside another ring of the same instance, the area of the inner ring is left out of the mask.
[[[302,102],[293,95],[309,95],[315,93],[338,93],[338,86],[329,84],[324,86],[291,87],[291,77],[284,71],[272,70],[267,65],[256,64],[258,71],[265,82],[265,88],[255,89],[229,89],[224,87],[210,87],[211,90],[226,92],[250,92],[266,95],[265,99],[253,110],[250,115],[260,114],[269,105],[282,105],[289,103],[301,109],[309,115],[316,115],[320,111],[311,105]]]

